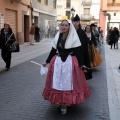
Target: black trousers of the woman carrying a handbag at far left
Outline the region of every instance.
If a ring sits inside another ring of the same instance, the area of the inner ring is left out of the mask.
[[[8,52],[4,49],[1,50],[1,56],[4,62],[6,63],[6,68],[10,68],[11,65],[11,52]]]

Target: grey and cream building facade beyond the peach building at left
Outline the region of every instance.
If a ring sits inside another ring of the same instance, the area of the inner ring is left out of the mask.
[[[56,0],[32,0],[32,7],[32,22],[38,24],[42,37],[49,37],[56,29]]]

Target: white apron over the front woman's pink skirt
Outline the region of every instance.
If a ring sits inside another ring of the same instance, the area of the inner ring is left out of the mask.
[[[70,55],[65,62],[62,62],[61,57],[56,57],[52,88],[61,91],[73,90],[72,57]]]

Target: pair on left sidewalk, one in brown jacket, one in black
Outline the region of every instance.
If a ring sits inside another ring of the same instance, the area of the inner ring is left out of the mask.
[[[30,28],[30,45],[33,45],[34,40],[39,42],[40,39],[40,28],[33,23]]]

